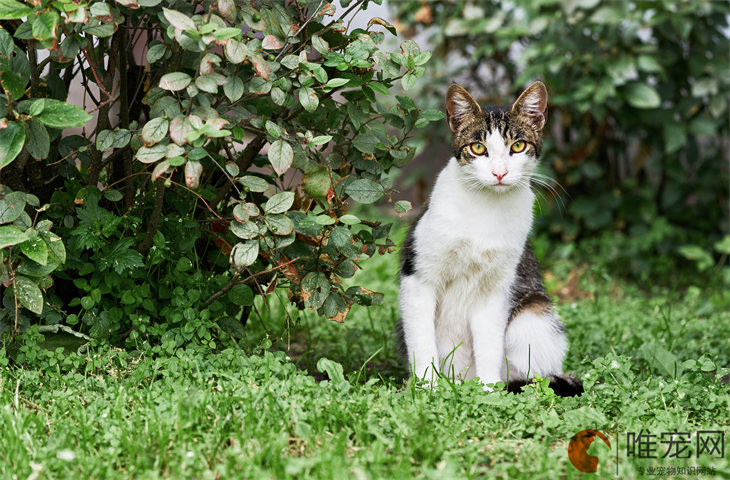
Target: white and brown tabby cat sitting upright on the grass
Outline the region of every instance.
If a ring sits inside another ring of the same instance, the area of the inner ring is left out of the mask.
[[[531,84],[511,107],[482,110],[459,85],[446,94],[454,156],[401,250],[399,333],[411,372],[479,377],[519,391],[535,374],[563,396],[565,328],[527,245],[547,89]]]

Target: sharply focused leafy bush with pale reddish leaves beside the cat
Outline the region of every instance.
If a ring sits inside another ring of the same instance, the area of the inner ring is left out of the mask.
[[[380,301],[341,279],[390,225],[348,211],[410,208],[386,175],[441,114],[382,100],[430,54],[386,52],[393,27],[349,30],[369,2],[340,3],[0,2],[0,333],[215,347],[278,287],[337,321]]]

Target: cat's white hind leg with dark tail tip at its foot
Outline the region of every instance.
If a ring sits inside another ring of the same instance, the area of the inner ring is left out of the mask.
[[[510,390],[519,391],[537,374],[549,378],[558,395],[579,395],[583,393],[581,382],[563,373],[567,347],[565,328],[549,304],[523,308],[507,325],[502,378]]]

